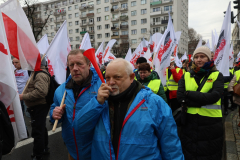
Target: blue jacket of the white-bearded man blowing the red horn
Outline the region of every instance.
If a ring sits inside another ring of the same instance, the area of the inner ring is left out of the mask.
[[[115,156],[110,136],[108,102],[91,99],[75,118],[77,135],[94,137],[92,160],[183,160],[181,142],[172,111],[165,101],[146,87],[132,102],[123,122]]]

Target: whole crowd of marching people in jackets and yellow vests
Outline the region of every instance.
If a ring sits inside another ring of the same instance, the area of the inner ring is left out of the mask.
[[[22,111],[31,117],[33,160],[50,153],[48,112],[52,123],[62,124],[69,160],[222,158],[223,114],[240,105],[240,97],[233,93],[240,83],[240,62],[223,76],[213,53],[202,46],[182,62],[182,68],[171,57],[163,85],[144,57],[137,59],[134,70],[130,62],[116,58],[100,67],[102,83],[83,53],[69,52],[70,75],[56,89],[52,104],[46,101],[51,77],[45,59],[42,71],[30,79],[13,59]]]

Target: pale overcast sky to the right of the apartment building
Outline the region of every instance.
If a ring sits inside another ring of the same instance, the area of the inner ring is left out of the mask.
[[[189,0],[188,26],[201,34],[204,40],[209,39],[211,44],[211,32],[216,29],[219,35],[224,19],[223,12],[227,10],[229,2],[230,0]],[[231,10],[236,16],[237,9],[233,8],[234,5],[232,0]],[[232,24],[232,29],[234,25]]]

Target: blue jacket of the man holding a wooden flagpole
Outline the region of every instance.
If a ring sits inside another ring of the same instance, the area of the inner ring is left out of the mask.
[[[75,116],[81,112],[81,109],[97,95],[98,88],[102,84],[100,78],[98,77],[97,72],[91,68],[93,72],[91,86],[85,87],[82,89],[81,96],[76,101],[75,107]],[[91,144],[93,139],[93,133],[89,134],[87,137],[83,137],[81,135],[75,134],[73,129],[73,116],[74,116],[74,94],[72,89],[66,89],[65,86],[68,81],[71,79],[71,75],[68,77],[67,81],[63,83],[61,86],[57,88],[54,95],[54,103],[50,108],[50,118],[51,121],[54,122],[52,118],[53,110],[56,106],[60,106],[61,100],[66,90],[65,104],[66,104],[66,112],[63,117],[59,120],[59,123],[62,122],[62,137],[67,146],[68,152],[70,155],[76,160],[87,160],[91,159]],[[84,91],[85,90],[85,91]],[[79,157],[79,158],[78,158]]]

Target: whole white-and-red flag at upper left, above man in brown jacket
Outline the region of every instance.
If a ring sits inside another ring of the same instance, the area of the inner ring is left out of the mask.
[[[40,53],[28,19],[18,0],[0,6],[10,53],[20,60],[22,69],[39,71]]]

